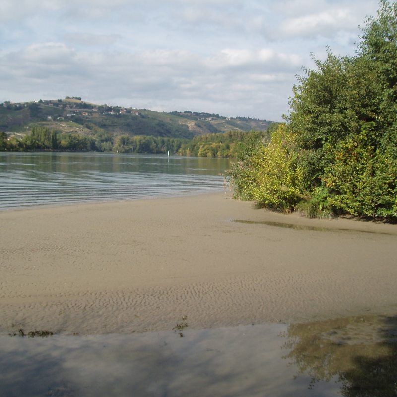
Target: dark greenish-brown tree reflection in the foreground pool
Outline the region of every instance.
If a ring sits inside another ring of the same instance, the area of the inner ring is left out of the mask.
[[[338,378],[345,397],[397,396],[397,317],[349,317],[291,324],[283,356],[308,373],[310,388]]]

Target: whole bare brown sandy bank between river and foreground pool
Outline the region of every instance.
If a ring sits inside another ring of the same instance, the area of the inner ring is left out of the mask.
[[[395,314],[396,285],[397,225],[310,220],[223,193],[0,212],[0,332]]]

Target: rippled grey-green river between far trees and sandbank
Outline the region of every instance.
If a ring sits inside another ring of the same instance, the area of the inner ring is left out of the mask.
[[[0,209],[221,190],[228,159],[118,153],[0,153]]]

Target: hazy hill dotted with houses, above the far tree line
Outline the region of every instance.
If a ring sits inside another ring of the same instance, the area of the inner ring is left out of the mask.
[[[86,136],[154,136],[192,139],[196,135],[230,130],[265,131],[268,120],[225,117],[205,112],[155,112],[121,106],[97,105],[79,97],[0,105],[0,131],[24,136],[33,127],[47,127],[57,133]]]

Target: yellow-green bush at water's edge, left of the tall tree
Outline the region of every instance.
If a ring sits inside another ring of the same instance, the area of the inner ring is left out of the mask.
[[[294,135],[281,124],[270,143],[254,135],[240,148],[239,161],[228,171],[236,197],[290,211],[303,196]]]

